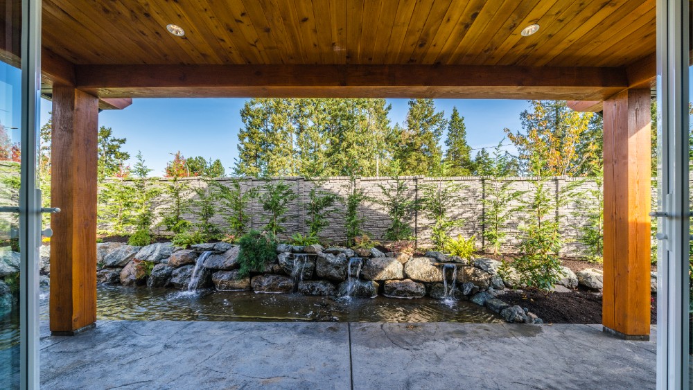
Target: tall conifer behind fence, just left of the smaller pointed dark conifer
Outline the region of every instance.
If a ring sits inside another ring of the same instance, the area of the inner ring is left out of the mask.
[[[436,112],[432,99],[409,101],[407,128],[395,158],[405,175],[432,175],[442,159],[440,139],[447,123],[444,112]]]

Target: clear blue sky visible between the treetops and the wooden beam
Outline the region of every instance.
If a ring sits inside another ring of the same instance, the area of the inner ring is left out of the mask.
[[[403,123],[407,99],[388,99],[389,117]],[[99,125],[112,127],[114,135],[125,137],[124,150],[134,159],[141,150],[152,175],[162,175],[170,153],[178,150],[186,157],[220,159],[230,172],[238,157],[238,130],[243,127],[240,109],[245,99],[135,99],[121,111],[99,114]],[[41,123],[46,123],[51,102],[41,102]],[[520,112],[526,100],[435,100],[436,109],[450,117],[453,106],[464,116],[467,140],[472,148],[493,148],[503,139],[503,128],[520,129]],[[443,136],[445,139],[445,135]],[[476,154],[476,151],[473,151]],[[132,161],[131,161],[132,163]],[[132,165],[132,164],[131,164]]]

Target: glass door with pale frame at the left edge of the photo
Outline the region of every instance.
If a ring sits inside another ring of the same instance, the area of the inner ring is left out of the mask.
[[[40,1],[0,0],[0,387],[38,387]]]

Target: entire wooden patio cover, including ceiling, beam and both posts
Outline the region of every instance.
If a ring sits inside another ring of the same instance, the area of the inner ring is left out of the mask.
[[[54,137],[73,134],[53,146],[73,156],[53,163],[53,199],[89,199],[54,204],[63,213],[53,219],[52,330],[75,332],[96,312],[96,255],[76,254],[96,238],[96,220],[79,219],[96,210],[96,162],[76,151],[96,154],[97,100],[119,108],[129,100],[110,99],[430,97],[604,110],[604,326],[649,335],[655,1],[44,0],[43,10],[44,91],[60,91]],[[523,36],[530,24],[541,28]],[[54,307],[54,297],[70,304]]]

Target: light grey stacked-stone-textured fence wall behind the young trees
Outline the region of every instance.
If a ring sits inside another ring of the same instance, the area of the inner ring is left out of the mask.
[[[421,176],[407,176],[400,177],[400,179],[405,180],[408,190],[414,199],[421,199],[423,196],[421,188],[426,184],[444,185],[444,183],[450,181],[454,184],[461,185],[462,190],[458,195],[462,197],[462,202],[459,203],[459,206],[455,209],[452,216],[455,219],[462,220],[464,223],[462,227],[455,229],[452,235],[457,236],[457,234],[462,234],[464,237],[475,235],[477,238],[477,247],[481,248],[485,244],[483,237],[485,211],[482,200],[484,197],[488,196],[489,190],[491,189],[489,181],[493,179],[489,177],[433,178]],[[538,178],[504,177],[500,180],[510,181],[513,190],[527,191],[525,196],[529,197],[531,195],[529,191],[534,188],[532,183],[536,181],[536,179]],[[231,179],[220,178],[214,180],[219,181],[221,184],[231,186]],[[347,196],[349,177],[328,177],[319,181],[306,179],[304,177],[273,177],[270,179],[244,178],[241,179],[241,188],[243,188],[244,191],[257,188],[258,191],[262,192],[262,187],[267,181],[277,182],[280,180],[294,188],[297,198],[289,204],[289,209],[286,213],[288,220],[284,224],[286,231],[281,234],[279,238],[288,239],[293,233],[307,233],[309,216],[306,212],[306,205],[309,202],[310,190],[315,186],[319,186],[322,190],[335,193],[342,197],[342,200],[337,201],[335,204],[335,213],[329,218],[329,226],[320,234],[321,239],[326,243],[343,245],[346,240],[344,228],[344,212],[346,206],[344,204],[344,197]],[[163,187],[167,184],[167,181],[170,181],[170,179],[159,179],[156,183]],[[182,181],[186,182],[191,188],[201,188],[208,185],[206,181],[199,177],[186,177],[182,178]],[[591,178],[552,177],[547,180],[547,186],[550,188],[550,192],[556,195],[561,188],[565,188],[565,186],[568,186],[571,182],[577,182],[575,191],[581,193],[581,195],[579,197],[574,197],[568,204],[565,204],[565,206],[556,213],[556,218],[559,220],[563,237],[568,241],[565,247],[563,247],[561,254],[563,256],[580,257],[586,254],[586,248],[579,241],[581,227],[588,224],[588,218],[583,208],[586,202],[596,202],[596,200],[590,199],[588,190],[597,189],[597,183]],[[364,202],[359,209],[360,217],[365,220],[362,227],[363,230],[375,240],[383,241],[383,235],[390,224],[390,218],[389,215],[387,215],[385,206],[378,203],[378,201],[384,199],[383,191],[380,186],[388,188],[394,186],[394,184],[394,179],[390,177],[360,177],[356,179],[356,187],[361,188],[365,195],[371,199]],[[193,191],[191,191],[190,196],[195,196]],[[164,210],[167,202],[168,199],[165,193],[162,193],[154,200],[155,215],[157,216],[157,221],[155,222],[160,220],[160,213]],[[218,213],[214,215],[211,222],[223,230],[226,227],[224,215],[221,214],[222,209],[220,207],[217,207],[217,210]],[[265,226],[267,213],[263,211],[261,204],[258,204],[257,200],[249,202],[247,213],[250,216],[250,228],[261,229]],[[197,218],[196,214],[197,211],[193,208],[191,213],[184,215],[184,218],[191,222],[195,222]],[[505,226],[507,242],[502,247],[503,251],[514,252],[517,250],[516,245],[518,243],[518,236],[520,236],[519,227],[522,224],[523,218],[524,215],[522,215],[522,213],[516,213]],[[432,222],[428,220],[421,211],[412,213],[409,222],[417,245],[426,246],[430,244]],[[99,229],[108,230],[108,227],[101,224]],[[164,234],[168,232],[164,231],[163,227],[155,227],[155,233]]]

